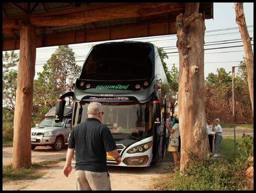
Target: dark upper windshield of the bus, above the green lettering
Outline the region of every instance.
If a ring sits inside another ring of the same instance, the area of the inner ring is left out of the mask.
[[[148,43],[116,43],[94,46],[79,79],[139,80],[154,77],[154,46]]]

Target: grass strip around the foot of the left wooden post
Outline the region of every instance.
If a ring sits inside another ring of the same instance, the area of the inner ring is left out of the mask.
[[[59,160],[41,161],[39,163],[33,163],[30,168],[19,169],[14,169],[12,164],[3,165],[3,183],[16,180],[38,179],[44,175],[44,173],[39,170],[40,167],[56,164],[59,163],[60,161],[65,160],[66,158],[62,158]]]

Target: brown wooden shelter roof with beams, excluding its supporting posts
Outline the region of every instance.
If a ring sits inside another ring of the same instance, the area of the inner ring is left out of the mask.
[[[37,47],[176,34],[185,3],[3,3],[3,51],[20,47],[19,20],[36,26]],[[200,3],[205,19],[213,3]]]

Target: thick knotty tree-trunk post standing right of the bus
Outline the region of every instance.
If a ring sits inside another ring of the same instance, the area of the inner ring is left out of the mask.
[[[176,18],[179,50],[179,128],[181,168],[189,166],[191,153],[207,157],[209,140],[205,120],[204,16],[199,3],[186,3],[185,14]]]

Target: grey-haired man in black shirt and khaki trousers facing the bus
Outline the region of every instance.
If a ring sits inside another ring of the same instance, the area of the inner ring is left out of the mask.
[[[106,152],[121,162],[115,141],[107,126],[101,124],[103,108],[100,103],[88,106],[88,118],[72,130],[63,174],[70,174],[71,160],[76,151],[76,190],[110,190]]]

